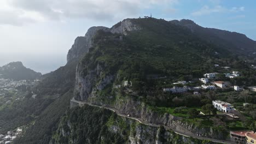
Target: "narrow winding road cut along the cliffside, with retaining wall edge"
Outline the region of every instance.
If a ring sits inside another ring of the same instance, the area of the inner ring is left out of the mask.
[[[130,119],[135,119],[136,121],[138,121],[139,123],[142,123],[142,124],[145,124],[145,125],[149,125],[150,127],[160,127],[161,125],[159,124],[152,124],[152,123],[148,123],[148,122],[145,122],[143,121],[141,118],[137,118],[137,117],[129,117],[129,116],[126,116],[122,113],[120,113],[118,110],[116,109],[113,109],[113,108],[110,108],[110,107],[105,107],[105,106],[100,106],[100,105],[94,105],[94,104],[90,104],[90,103],[86,103],[84,101],[78,101],[78,100],[75,100],[74,98],[72,98],[72,101],[75,102],[75,103],[78,103],[78,104],[86,104],[86,105],[89,105],[89,106],[95,106],[95,107],[100,107],[101,109],[108,109],[108,110],[111,110],[115,113],[117,113],[117,115],[119,116],[122,116],[122,117],[125,117],[125,118],[130,118]],[[179,135],[182,135],[182,136],[185,136],[185,137],[193,137],[195,139],[200,139],[200,140],[210,140],[212,142],[218,142],[218,143],[230,143],[230,144],[236,144],[235,142],[231,142],[231,141],[224,141],[224,140],[217,140],[217,139],[211,139],[211,138],[208,138],[208,137],[202,137],[202,136],[196,136],[195,134],[191,133],[191,131],[184,131],[184,130],[181,130],[181,129],[172,129],[170,127],[167,127],[165,125],[162,125],[165,129],[168,129],[168,130],[173,130],[174,133],[176,134],[179,134]],[[180,125],[178,125],[179,127],[181,127]],[[181,127],[182,128],[182,127]],[[184,129],[184,128],[183,128]]]

